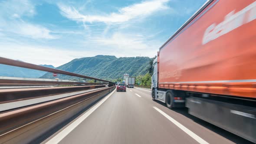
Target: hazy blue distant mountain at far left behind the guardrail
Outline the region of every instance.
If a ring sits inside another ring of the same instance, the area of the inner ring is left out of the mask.
[[[41,66],[54,69],[53,65],[41,65]],[[44,74],[46,74],[46,72],[44,71],[0,64],[0,76],[20,77],[20,78],[39,78]]]

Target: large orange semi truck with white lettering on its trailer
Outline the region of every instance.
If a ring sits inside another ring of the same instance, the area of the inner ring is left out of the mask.
[[[208,0],[160,47],[153,100],[256,143],[255,19],[255,0]]]

